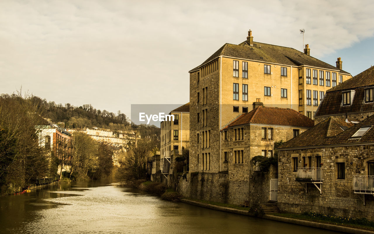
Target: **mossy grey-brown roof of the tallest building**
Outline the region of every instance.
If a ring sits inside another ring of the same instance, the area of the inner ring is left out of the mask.
[[[201,65],[215,59],[220,55],[258,60],[269,63],[279,63],[290,66],[307,65],[324,69],[332,69],[336,71],[339,70],[335,66],[329,65],[328,63],[325,63],[290,47],[275,46],[272,44],[260,42],[253,42],[253,46],[249,46],[246,41],[240,43],[239,45],[229,43],[224,44]],[[200,66],[197,66],[191,71],[196,71]],[[348,72],[345,72],[343,70],[340,70],[340,73],[349,74]]]

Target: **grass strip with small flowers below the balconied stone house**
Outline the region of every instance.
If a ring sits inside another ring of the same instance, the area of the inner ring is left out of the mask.
[[[353,218],[343,218],[339,216],[332,215],[322,215],[318,213],[274,213],[274,216],[280,216],[284,218],[300,219],[312,222],[320,222],[324,224],[333,224],[344,227],[359,228],[364,230],[374,231],[374,227],[370,225],[371,221],[367,219],[353,219]],[[366,223],[366,224],[365,224]]]

